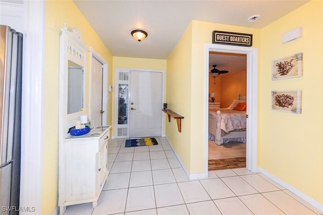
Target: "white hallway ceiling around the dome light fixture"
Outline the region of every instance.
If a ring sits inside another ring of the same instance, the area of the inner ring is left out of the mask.
[[[73,1],[113,56],[148,59],[167,59],[192,20],[263,28],[308,2],[308,0]],[[247,21],[250,16],[257,14],[261,16],[259,20]],[[130,35],[134,29],[146,31],[147,38],[141,42],[136,41]],[[211,38],[212,32],[210,42]]]

